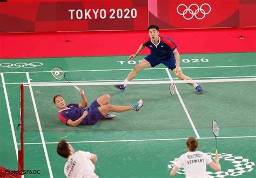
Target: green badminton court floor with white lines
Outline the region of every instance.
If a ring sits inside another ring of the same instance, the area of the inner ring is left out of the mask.
[[[72,82],[123,81],[143,57],[134,61],[127,61],[127,56],[1,59],[0,165],[17,170],[21,83],[59,82],[51,76],[53,66],[62,67]],[[220,126],[217,140],[221,172],[207,168],[209,177],[256,177],[256,53],[181,54],[181,69],[194,80],[254,81],[203,83],[205,93],[201,95],[189,85],[177,84],[178,93],[173,96],[169,84],[128,85],[125,92],[110,85],[79,86],[89,103],[105,93],[111,95],[113,105],[144,100],[139,112],[116,113],[113,120],[79,127],[60,122],[52,103],[56,94],[62,94],[66,103],[79,102],[73,86],[24,87],[24,168],[40,173],[25,177],[64,177],[65,159],[56,152],[60,139],[76,150],[97,154],[99,177],[169,177],[174,159],[186,152],[190,136],[198,138],[198,150],[214,156],[212,120]],[[139,72],[134,81],[171,78],[177,80],[159,65]],[[179,170],[176,177],[185,177],[183,173]]]

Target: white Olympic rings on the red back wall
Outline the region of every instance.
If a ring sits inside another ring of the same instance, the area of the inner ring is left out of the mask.
[[[181,6],[184,6],[185,7],[185,10],[183,10],[183,12],[181,13],[180,12],[180,7]],[[193,11],[192,9],[191,9],[191,7],[192,6],[196,6],[196,10],[195,11]],[[204,10],[205,8],[203,8],[203,7],[205,7],[205,6],[208,6],[208,11],[206,12],[206,10]],[[180,5],[178,5],[178,7],[177,7],[177,12],[179,13],[179,15],[181,15],[181,16],[183,16],[186,20],[191,20],[193,17],[196,17],[198,20],[201,20],[201,19],[203,19],[203,18],[205,18],[205,16],[208,14],[208,13],[210,13],[211,12],[211,6],[209,5],[209,4],[207,4],[207,3],[204,3],[204,4],[202,4],[200,7],[197,5],[197,4],[191,4],[190,6],[186,6],[185,4],[180,4]],[[203,16],[202,17],[198,17],[198,13],[199,12],[201,12],[201,14],[203,14]],[[191,17],[186,17],[186,15],[187,14],[190,14],[191,15]]]

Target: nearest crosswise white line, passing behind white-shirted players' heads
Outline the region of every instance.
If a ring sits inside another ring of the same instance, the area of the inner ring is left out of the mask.
[[[246,139],[256,138],[256,136],[219,136],[218,139]],[[198,139],[215,139],[215,137],[201,137]],[[140,140],[98,140],[98,141],[69,141],[69,143],[107,143],[107,142],[132,142],[132,141],[168,141],[168,140],[187,140],[187,138],[177,139],[140,139]],[[45,142],[44,144],[58,144],[59,142]],[[24,145],[41,145],[43,143],[24,143]],[[21,145],[21,143],[18,143]]]

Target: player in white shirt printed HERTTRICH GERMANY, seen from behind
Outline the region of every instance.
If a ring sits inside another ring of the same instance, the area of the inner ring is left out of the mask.
[[[181,167],[185,169],[186,178],[207,178],[206,165],[216,171],[221,170],[218,155],[214,158],[213,162],[209,155],[197,151],[197,147],[198,142],[196,138],[190,137],[187,139],[188,152],[181,155],[176,163],[174,163],[170,173],[171,176],[174,176]]]

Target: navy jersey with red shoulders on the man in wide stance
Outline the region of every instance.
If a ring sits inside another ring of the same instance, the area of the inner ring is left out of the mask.
[[[157,45],[153,44],[150,37],[148,37],[143,42],[143,46],[148,47],[151,54],[160,60],[174,58],[173,51],[177,48],[177,45],[170,38],[161,36],[159,36]]]

